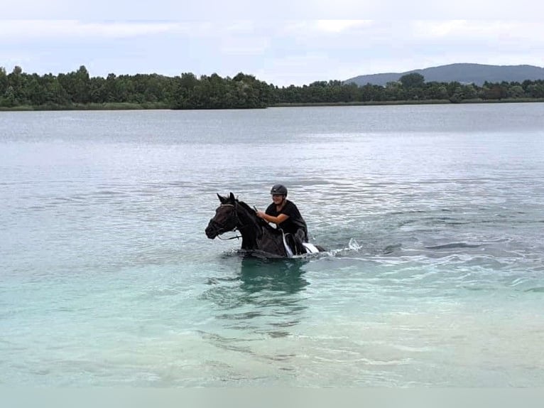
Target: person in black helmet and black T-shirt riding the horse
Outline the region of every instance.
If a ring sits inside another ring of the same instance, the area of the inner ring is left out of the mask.
[[[257,211],[257,216],[268,222],[274,222],[286,234],[295,238],[297,254],[305,253],[303,242],[308,242],[308,227],[295,203],[287,199],[287,188],[275,184],[270,190],[272,203],[266,211]]]

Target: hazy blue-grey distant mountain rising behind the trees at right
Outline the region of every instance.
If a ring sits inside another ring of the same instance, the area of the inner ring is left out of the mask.
[[[524,80],[544,80],[544,68],[534,65],[482,65],[482,64],[450,64],[440,67],[412,70],[406,73],[385,73],[359,75],[345,80],[344,83],[354,82],[357,85],[386,85],[387,82],[398,81],[403,75],[418,73],[425,77],[425,82],[461,82],[483,85],[488,82],[523,82]]]

